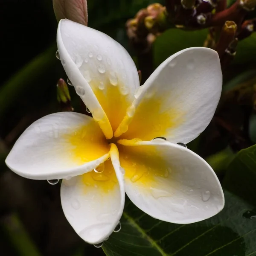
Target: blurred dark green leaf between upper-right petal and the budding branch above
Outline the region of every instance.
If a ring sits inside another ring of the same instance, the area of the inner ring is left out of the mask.
[[[168,29],[154,42],[154,65],[158,67],[175,52],[189,48],[203,46],[208,30],[184,31]]]

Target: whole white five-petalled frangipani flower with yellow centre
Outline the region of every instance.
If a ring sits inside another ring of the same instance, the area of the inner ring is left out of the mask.
[[[61,112],[39,119],[12,148],[9,168],[26,178],[63,179],[64,214],[91,244],[119,223],[125,192],[148,215],[172,223],[221,211],[224,195],[212,168],[177,144],[194,140],[212,119],[221,95],[218,54],[184,49],[139,87],[131,57],[102,32],[61,20],[57,44],[93,118]]]

